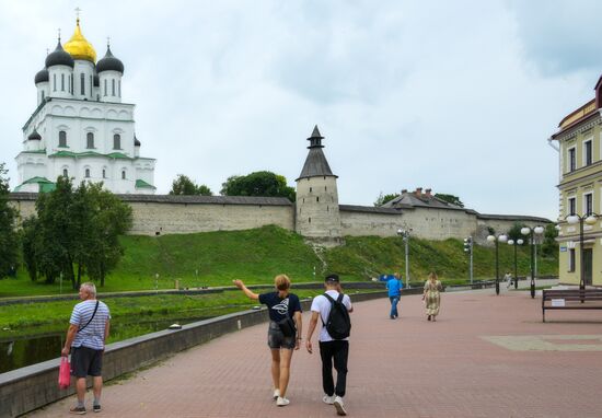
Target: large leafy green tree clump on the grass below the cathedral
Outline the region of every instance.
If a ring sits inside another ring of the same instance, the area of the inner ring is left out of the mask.
[[[62,277],[78,289],[86,275],[104,286],[123,255],[118,236],[131,228],[131,208],[102,184],[73,188],[58,177],[56,189],[39,194],[36,217],[22,228],[23,262],[32,280]]]

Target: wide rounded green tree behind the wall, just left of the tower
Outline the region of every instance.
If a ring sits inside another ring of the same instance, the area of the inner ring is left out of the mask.
[[[230,176],[222,184],[223,196],[287,197],[294,201],[293,187],[287,186],[287,178],[268,171],[254,172],[245,176]]]

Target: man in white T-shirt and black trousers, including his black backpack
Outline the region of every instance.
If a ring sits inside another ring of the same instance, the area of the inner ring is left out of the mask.
[[[337,275],[326,276],[326,292],[312,302],[312,317],[308,328],[305,348],[313,352],[312,335],[322,321],[320,330],[320,357],[322,358],[322,387],[325,404],[334,405],[338,415],[347,415],[343,397],[347,385],[347,358],[349,357],[349,334],[351,322],[349,313],[354,311],[349,295],[343,294]],[[333,361],[337,372],[336,386],[333,379]]]

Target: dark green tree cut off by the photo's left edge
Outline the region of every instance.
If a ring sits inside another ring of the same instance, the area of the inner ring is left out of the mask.
[[[19,260],[16,210],[9,205],[9,178],[4,163],[0,163],[0,279],[14,274]]]

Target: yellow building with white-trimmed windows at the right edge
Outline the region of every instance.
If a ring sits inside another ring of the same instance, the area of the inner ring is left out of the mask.
[[[595,97],[567,115],[558,141],[560,283],[602,286],[602,77]]]

